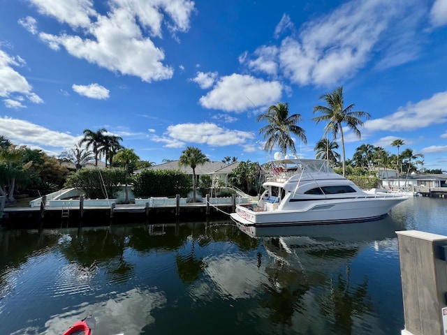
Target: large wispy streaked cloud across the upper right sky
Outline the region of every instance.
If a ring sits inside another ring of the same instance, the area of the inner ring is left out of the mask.
[[[287,29],[291,34],[281,45],[263,45],[251,57],[244,53],[239,60],[269,75],[281,70],[295,84],[332,87],[353,77],[372,60],[373,52],[379,58],[376,68],[381,70],[418,57],[416,31],[425,13],[425,5],[418,0],[349,1],[304,24],[300,34],[290,17],[283,15],[274,35]]]

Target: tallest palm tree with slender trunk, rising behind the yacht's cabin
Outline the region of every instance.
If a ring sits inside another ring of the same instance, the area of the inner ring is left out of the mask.
[[[320,99],[324,100],[328,106],[315,106],[314,113],[321,112],[322,115],[314,117],[312,121],[316,121],[316,124],[321,121],[327,122],[325,133],[332,133],[334,138],[337,138],[338,133],[340,133],[340,138],[342,140],[344,176],[346,173],[346,154],[344,150],[343,124],[347,124],[360,139],[361,134],[358,130],[358,126],[363,126],[363,121],[360,120],[360,118],[365,117],[366,119],[369,119],[371,115],[367,112],[353,111],[354,104],[345,108],[343,101],[343,87],[339,87],[331,93],[323,94],[320,96]]]

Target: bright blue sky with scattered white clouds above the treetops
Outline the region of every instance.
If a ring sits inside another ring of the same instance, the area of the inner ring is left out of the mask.
[[[447,0],[0,0],[0,134],[57,156],[106,128],[155,163],[264,163],[256,116],[287,102],[314,158],[313,107],[342,86],[372,116],[347,157],[402,139],[447,170],[446,36]]]

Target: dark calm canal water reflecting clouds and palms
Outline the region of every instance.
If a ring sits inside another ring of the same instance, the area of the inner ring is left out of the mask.
[[[382,221],[283,231],[230,220],[6,230],[0,333],[61,334],[91,314],[94,335],[398,335],[395,230],[447,234],[446,218],[447,199],[414,198]]]

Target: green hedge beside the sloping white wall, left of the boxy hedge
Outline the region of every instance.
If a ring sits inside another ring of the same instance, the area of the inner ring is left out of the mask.
[[[108,198],[115,198],[122,188],[119,184],[124,184],[124,180],[124,169],[121,168],[80,169],[67,177],[65,186],[81,188],[87,198],[105,199],[105,193]]]

